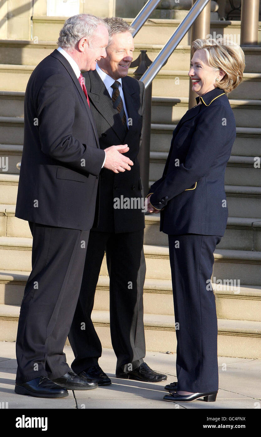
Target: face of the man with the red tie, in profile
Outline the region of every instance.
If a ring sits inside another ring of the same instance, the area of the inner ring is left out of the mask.
[[[95,70],[96,62],[106,57],[105,47],[108,44],[108,30],[102,24],[99,24],[91,44],[85,39],[81,38],[79,42],[79,49],[81,51],[81,66],[82,70]]]

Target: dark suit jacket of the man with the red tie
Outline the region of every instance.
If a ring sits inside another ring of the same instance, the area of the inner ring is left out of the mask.
[[[104,158],[79,81],[54,50],[34,69],[25,92],[16,217],[91,229]]]

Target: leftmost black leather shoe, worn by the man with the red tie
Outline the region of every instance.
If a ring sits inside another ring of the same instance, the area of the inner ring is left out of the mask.
[[[14,391],[18,395],[29,395],[35,398],[66,398],[68,396],[68,391],[65,388],[54,384],[51,379],[45,376],[16,384]]]

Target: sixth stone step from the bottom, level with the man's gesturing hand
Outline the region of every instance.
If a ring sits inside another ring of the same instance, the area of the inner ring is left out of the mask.
[[[167,152],[150,152],[150,180],[158,180],[162,177],[167,157]],[[225,184],[260,187],[261,168],[254,167],[254,164],[258,163],[254,158],[254,156],[230,156],[225,173]]]

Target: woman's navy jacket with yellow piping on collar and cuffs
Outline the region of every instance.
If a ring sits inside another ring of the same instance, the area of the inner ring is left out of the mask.
[[[219,88],[196,100],[201,104],[188,110],[173,132],[163,177],[151,186],[150,200],[164,208],[160,230],[166,234],[223,236],[228,216],[224,175],[235,118]]]

